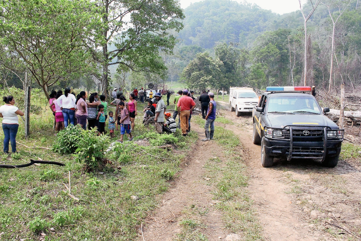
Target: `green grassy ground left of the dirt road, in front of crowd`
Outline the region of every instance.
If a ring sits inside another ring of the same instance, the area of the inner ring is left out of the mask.
[[[125,143],[131,145],[131,153],[122,153],[130,161],[122,164],[121,159],[107,155],[113,165],[106,166],[104,174],[86,173],[83,163],[74,162],[73,156],[60,156],[51,150],[35,148],[52,146],[55,132],[52,130],[53,115],[43,109],[42,115],[31,116],[31,135],[23,138],[23,125],[20,124],[17,140],[26,148],[17,145],[19,153],[12,156],[1,155],[0,163],[25,163],[30,159],[60,161],[64,167],[55,165],[32,165],[22,169],[0,169],[0,233],[2,240],[15,240],[16,237],[38,240],[40,229],[47,234],[46,240],[134,240],[138,225],[147,212],[159,203],[162,193],[170,186],[167,179],[177,176],[181,160],[197,140],[196,132],[187,139],[178,131],[175,135],[177,152]],[[154,127],[149,129],[136,118],[133,131],[135,139],[148,133],[155,139],[159,136]],[[0,132],[1,138],[3,133]],[[119,132],[116,132],[116,140]],[[158,159],[145,152],[168,159]],[[128,148],[129,149],[129,148]],[[119,157],[120,158],[120,157]],[[119,167],[119,168],[116,168]],[[71,194],[63,183],[69,185],[70,171]],[[131,196],[138,196],[134,200]],[[55,232],[50,232],[54,228]],[[32,230],[31,230],[32,229]],[[37,231],[38,230],[38,231]]]

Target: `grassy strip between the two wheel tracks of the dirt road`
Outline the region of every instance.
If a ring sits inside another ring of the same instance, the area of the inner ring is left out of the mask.
[[[200,117],[195,117],[193,121],[204,126],[204,120]],[[257,211],[245,190],[249,178],[243,158],[237,151],[241,143],[232,131],[219,126],[215,126],[214,141],[224,149],[227,157],[223,162],[212,157],[204,165],[204,177],[209,178],[210,185],[215,187],[214,199],[222,201],[216,207],[223,212],[226,227],[231,232],[242,232],[244,240],[263,240]]]

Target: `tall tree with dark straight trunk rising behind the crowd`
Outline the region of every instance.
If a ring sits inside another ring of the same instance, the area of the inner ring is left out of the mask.
[[[176,0],[97,0],[102,26],[89,48],[101,67],[96,75],[102,83],[103,94],[108,89],[109,65],[125,65],[132,71],[157,72],[166,69],[159,61],[158,51],[171,53],[176,37],[169,29],[183,28],[182,9]],[[100,48],[100,51],[98,51]],[[108,49],[109,48],[109,49]]]

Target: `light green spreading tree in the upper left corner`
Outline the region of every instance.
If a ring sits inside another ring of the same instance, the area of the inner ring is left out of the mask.
[[[25,63],[49,99],[50,86],[84,67],[84,45],[96,20],[92,4],[87,0],[7,0],[0,7],[1,47]]]

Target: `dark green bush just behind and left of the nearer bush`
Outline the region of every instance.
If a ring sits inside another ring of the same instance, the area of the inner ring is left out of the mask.
[[[53,145],[53,151],[62,154],[71,154],[79,147],[84,130],[79,126],[69,125],[64,130],[59,131],[57,140]]]

